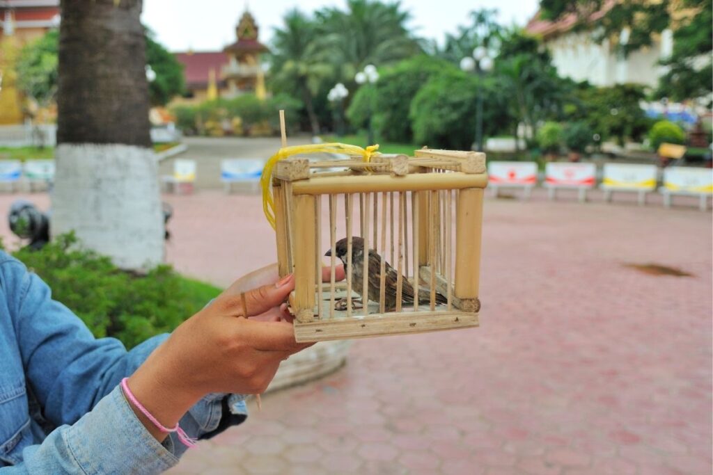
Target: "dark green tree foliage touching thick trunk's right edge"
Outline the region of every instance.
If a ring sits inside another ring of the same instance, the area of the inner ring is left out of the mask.
[[[146,63],[151,66],[156,78],[148,83],[151,105],[166,105],[176,95],[183,94],[183,64],[173,54],[153,39],[146,29]]]

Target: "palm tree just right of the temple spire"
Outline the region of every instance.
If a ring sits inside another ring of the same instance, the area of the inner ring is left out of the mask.
[[[298,9],[288,11],[284,28],[275,28],[270,68],[276,89],[302,98],[314,135],[319,134],[319,120],[313,98],[322,80],[331,73],[329,65],[319,61],[316,37],[312,19]]]

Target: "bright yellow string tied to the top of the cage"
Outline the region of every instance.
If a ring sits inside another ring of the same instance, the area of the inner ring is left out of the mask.
[[[314,145],[295,145],[293,147],[283,147],[277,151],[275,155],[270,157],[265,164],[265,169],[262,170],[260,177],[260,186],[262,187],[262,209],[267,217],[267,222],[270,223],[272,229],[275,229],[275,199],[270,192],[272,188],[272,171],[275,165],[280,160],[284,160],[292,155],[313,154],[313,153],[334,153],[342,155],[359,155],[364,159],[364,162],[371,162],[371,156],[378,154],[379,145],[369,145],[369,147],[361,148],[356,145],[348,145],[339,142],[322,143]],[[335,162],[334,166],[338,167],[339,163]],[[367,168],[366,171],[371,172]]]

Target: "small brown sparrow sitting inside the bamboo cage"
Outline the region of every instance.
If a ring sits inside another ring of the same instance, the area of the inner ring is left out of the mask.
[[[352,269],[349,266],[349,256],[347,255],[347,238],[339,239],[334,246],[334,256],[338,257],[344,263],[344,272],[352,273],[352,289],[361,295],[361,300],[364,301],[364,239],[354,236],[352,237]],[[327,251],[325,256],[332,256],[332,249]],[[393,310],[396,308],[396,278],[399,273],[384,261],[384,308]],[[369,291],[366,299],[374,302],[379,302],[379,291],[381,288],[381,256],[374,249],[369,249]],[[431,292],[425,288],[419,288],[419,304],[430,303]],[[366,304],[365,302],[364,305]],[[401,280],[401,303],[414,303],[414,286],[411,285],[406,277]],[[436,305],[448,303],[448,299],[436,292]],[[339,310],[339,309],[338,309]]]

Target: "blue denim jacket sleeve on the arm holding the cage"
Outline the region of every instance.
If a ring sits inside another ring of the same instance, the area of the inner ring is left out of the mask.
[[[52,300],[48,286],[19,261],[4,263],[2,271],[6,293],[16,296],[10,303],[11,315],[27,382],[43,407],[43,416],[58,426],[43,444],[26,449],[26,456],[36,461],[64,459],[69,463],[71,459],[66,457],[78,456],[71,452],[73,441],[78,446],[97,448],[104,437],[116,440],[113,450],[123,454],[118,459],[123,456],[136,462],[138,454],[146,454],[159,464],[183,454],[185,447],[173,436],[166,439],[166,447],[158,444],[135,418],[118,389],[120,380],[131,375],[168,335],[150,338],[127,352],[116,339],[94,338],[71,310]],[[213,394],[195,404],[180,424],[191,437],[205,439],[240,424],[246,414],[242,396]],[[132,440],[138,441],[133,444],[118,443],[116,439],[121,421],[127,420],[130,423],[123,422],[125,429],[133,434]],[[142,447],[139,449],[137,444]],[[158,450],[157,444],[163,451]],[[111,463],[113,454],[106,453],[106,447],[94,451],[93,459],[104,459],[105,454]],[[147,463],[140,461],[139,465]],[[3,475],[4,470],[0,470]],[[96,473],[112,472],[102,469]],[[63,473],[63,469],[47,473]]]

